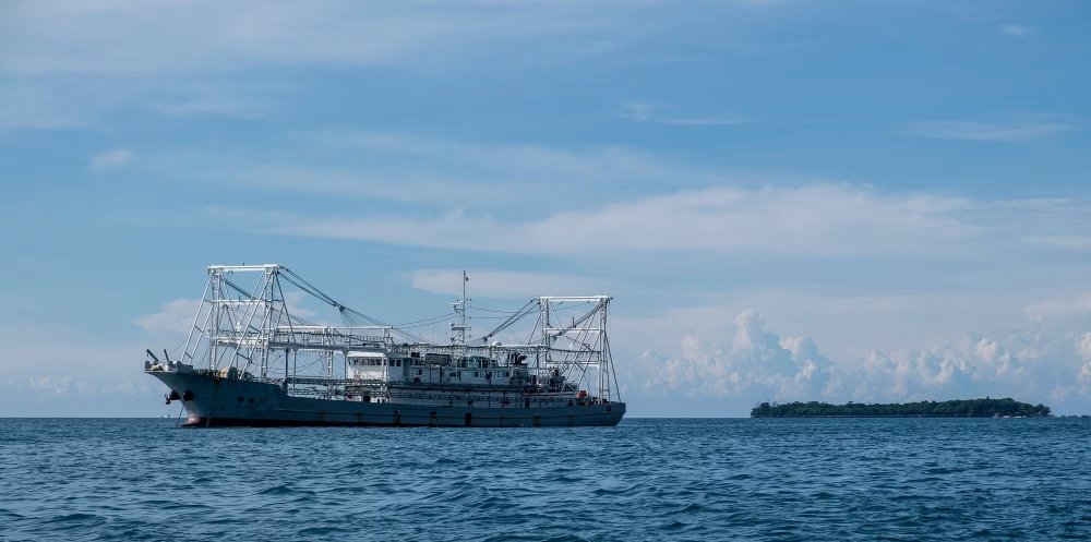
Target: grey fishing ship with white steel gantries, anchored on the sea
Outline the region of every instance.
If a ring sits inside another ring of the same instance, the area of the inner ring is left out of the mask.
[[[213,265],[181,351],[144,372],[185,426],[612,426],[625,414],[607,336],[611,297],[537,297],[386,324],[280,264]],[[301,309],[316,299],[331,323]],[[471,337],[469,313],[502,320]],[[488,311],[481,313],[481,311]],[[451,321],[443,340],[420,332]],[[501,341],[503,337],[506,340]]]

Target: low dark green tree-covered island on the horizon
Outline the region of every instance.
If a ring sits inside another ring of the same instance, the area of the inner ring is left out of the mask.
[[[763,402],[751,410],[751,418],[993,418],[1050,415],[1050,407],[1028,405],[1014,399],[962,399],[954,401],[921,401],[903,404],[863,404],[849,401],[847,405],[828,402]]]

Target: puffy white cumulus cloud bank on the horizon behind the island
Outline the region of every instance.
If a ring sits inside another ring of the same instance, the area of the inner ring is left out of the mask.
[[[1091,333],[967,336],[922,350],[873,350],[830,360],[805,336],[766,329],[754,311],[738,314],[727,340],[682,338],[676,356],[647,351],[636,374],[650,395],[728,399],[865,402],[1014,397],[1078,411],[1091,399]],[[1066,384],[1067,383],[1067,384]]]

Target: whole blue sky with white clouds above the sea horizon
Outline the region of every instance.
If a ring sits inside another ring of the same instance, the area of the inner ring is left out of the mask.
[[[1088,58],[1083,1],[7,1],[0,415],[176,415],[238,263],[611,294],[634,417],[1091,413]]]

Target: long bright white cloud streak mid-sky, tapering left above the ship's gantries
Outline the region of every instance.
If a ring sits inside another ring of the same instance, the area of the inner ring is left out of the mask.
[[[262,220],[281,233],[507,253],[751,252],[848,255],[942,253],[979,238],[959,217],[971,202],[932,196],[880,196],[847,185],[715,186],[559,212],[538,220],[504,220],[451,212]],[[261,216],[250,217],[251,219]]]

